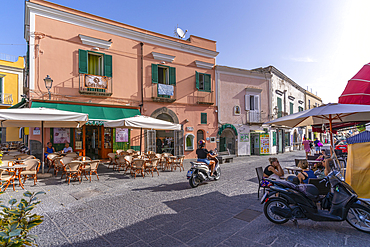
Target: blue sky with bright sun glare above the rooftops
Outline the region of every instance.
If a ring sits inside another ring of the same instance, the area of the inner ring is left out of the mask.
[[[0,53],[23,56],[24,1],[0,2]],[[169,36],[179,25],[189,30],[186,37],[217,41],[218,65],[273,65],[324,103],[337,102],[347,81],[370,62],[367,0],[52,2]]]

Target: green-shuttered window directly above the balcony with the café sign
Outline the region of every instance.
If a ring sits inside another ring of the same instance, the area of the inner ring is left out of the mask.
[[[78,72],[112,77],[112,56],[80,49],[78,50]]]

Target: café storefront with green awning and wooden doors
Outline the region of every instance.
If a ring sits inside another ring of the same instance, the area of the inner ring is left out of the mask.
[[[73,104],[74,103],[74,104]],[[120,128],[105,128],[104,121],[140,115],[136,107],[119,107],[115,105],[97,105],[77,102],[33,101],[31,108],[45,107],[71,112],[89,114],[89,121],[81,128],[50,128],[50,138],[56,151],[62,150],[66,142],[74,151],[92,159],[107,158],[108,153],[118,149],[137,149],[131,145],[131,131]]]

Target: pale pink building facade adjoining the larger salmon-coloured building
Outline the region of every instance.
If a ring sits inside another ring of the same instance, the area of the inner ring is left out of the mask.
[[[218,149],[230,154],[269,154],[268,134],[271,75],[216,66]],[[266,148],[267,145],[267,148]]]

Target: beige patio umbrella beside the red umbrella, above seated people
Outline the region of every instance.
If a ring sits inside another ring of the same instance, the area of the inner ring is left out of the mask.
[[[306,111],[281,117],[265,124],[300,127],[329,123],[330,143],[333,146],[333,124],[348,122],[369,122],[370,105],[327,104]]]

